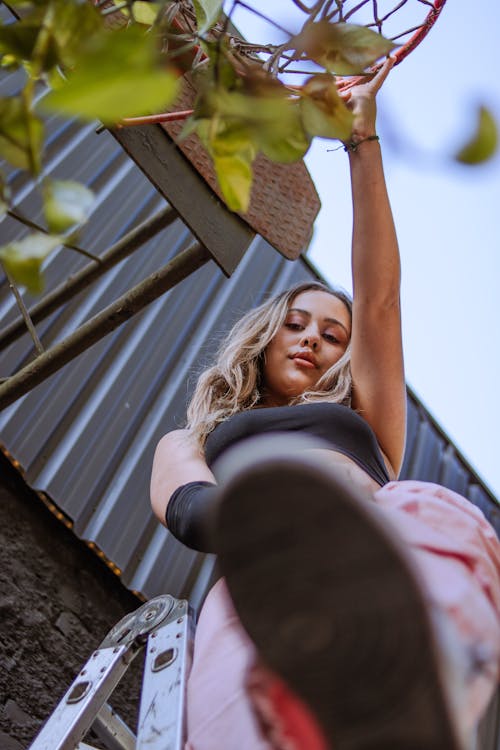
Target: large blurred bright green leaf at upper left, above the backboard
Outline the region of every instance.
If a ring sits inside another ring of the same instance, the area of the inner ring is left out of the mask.
[[[156,40],[131,26],[100,35],[67,83],[40,107],[113,125],[168,107],[177,90],[177,76],[160,67]]]

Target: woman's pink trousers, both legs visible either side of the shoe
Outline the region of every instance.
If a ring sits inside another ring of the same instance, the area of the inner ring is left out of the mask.
[[[449,616],[471,663],[466,724],[486,709],[500,670],[500,543],[482,512],[428,482],[390,482],[375,503],[407,543],[429,605]],[[196,631],[188,681],[186,750],[272,750],[245,691],[255,647],[223,580],[210,591]]]

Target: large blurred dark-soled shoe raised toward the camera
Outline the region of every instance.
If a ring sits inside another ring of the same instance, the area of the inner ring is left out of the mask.
[[[218,472],[221,569],[263,662],[335,750],[462,750],[419,577],[392,528],[329,463],[275,445],[247,441]]]

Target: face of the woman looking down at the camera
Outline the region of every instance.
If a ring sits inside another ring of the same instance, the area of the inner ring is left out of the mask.
[[[344,354],[350,335],[351,318],[340,299],[320,290],[298,294],[265,350],[262,404],[282,406],[313,389]]]

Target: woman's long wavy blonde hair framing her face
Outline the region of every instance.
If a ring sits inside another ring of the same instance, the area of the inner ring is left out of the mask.
[[[329,289],[318,282],[292,287],[250,310],[229,331],[219,346],[215,364],[205,370],[196,384],[187,410],[187,427],[204,446],[212,430],[233,414],[258,406],[264,352],[279,331],[297,295],[307,291],[327,292],[340,299],[352,317],[352,301],[342,290]],[[290,405],[311,401],[351,404],[351,346],[320,378],[313,391],[306,391]]]

